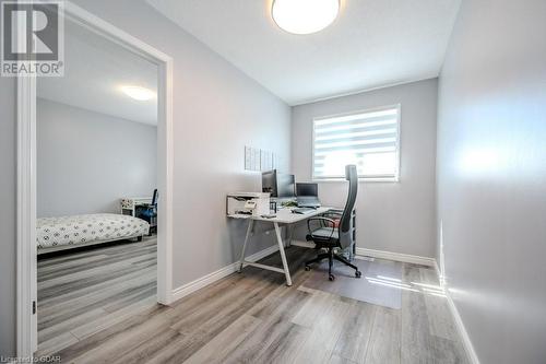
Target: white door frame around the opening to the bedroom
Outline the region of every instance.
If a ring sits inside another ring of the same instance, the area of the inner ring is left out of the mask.
[[[64,17],[158,67],[157,81],[157,302],[173,302],[173,58],[67,1]],[[25,30],[20,28],[19,32]],[[17,356],[37,350],[36,267],[36,79],[17,79]]]

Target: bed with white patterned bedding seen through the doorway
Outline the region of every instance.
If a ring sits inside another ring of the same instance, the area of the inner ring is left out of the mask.
[[[130,238],[140,240],[149,231],[146,221],[115,213],[40,218],[36,222],[36,245],[38,254],[44,254]]]

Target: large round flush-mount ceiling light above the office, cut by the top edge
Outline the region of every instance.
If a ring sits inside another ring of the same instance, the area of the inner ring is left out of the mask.
[[[271,15],[282,30],[293,34],[322,31],[337,17],[340,0],[273,0]]]

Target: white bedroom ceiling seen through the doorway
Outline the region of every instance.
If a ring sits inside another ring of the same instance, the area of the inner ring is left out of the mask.
[[[157,66],[67,21],[64,77],[38,78],[37,95],[96,113],[157,125],[157,99],[132,99],[120,91],[121,85],[138,85],[156,92]]]

